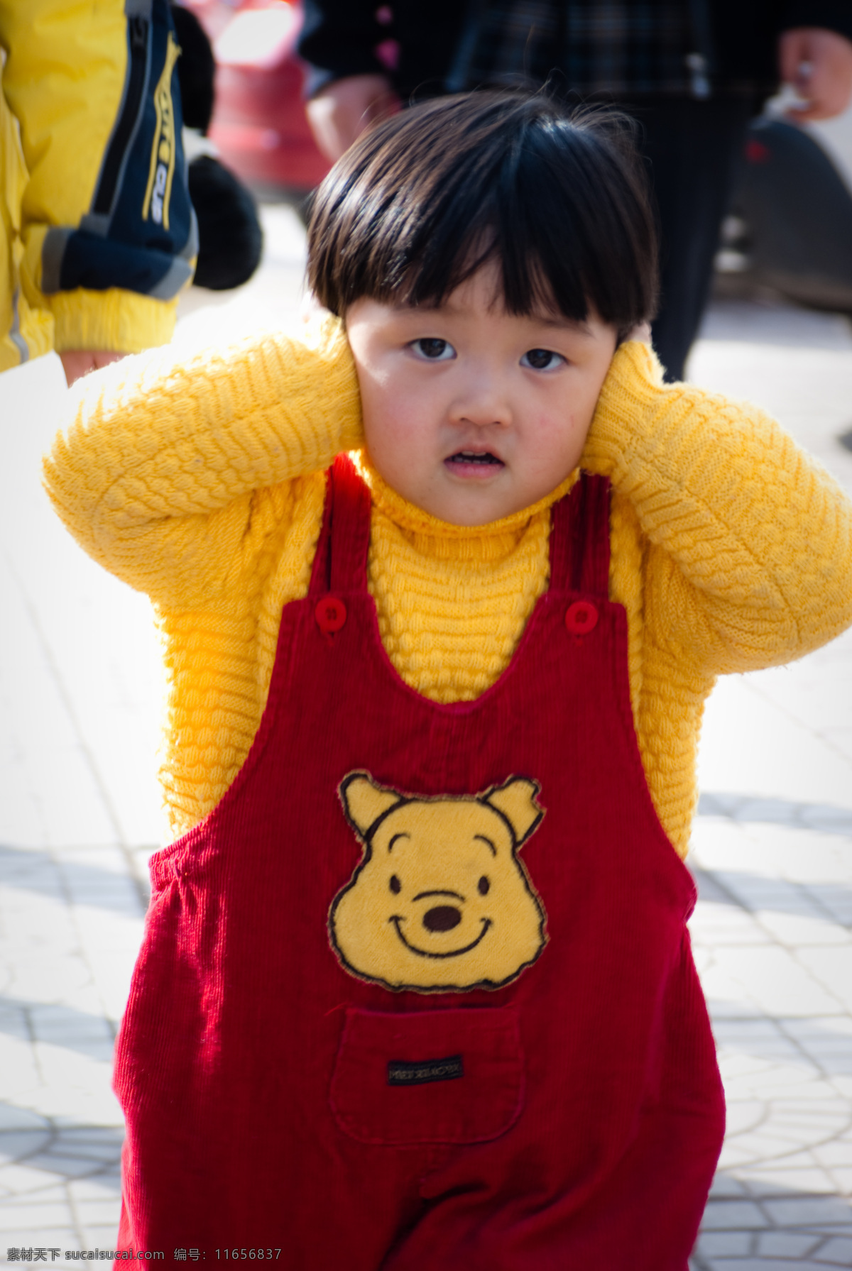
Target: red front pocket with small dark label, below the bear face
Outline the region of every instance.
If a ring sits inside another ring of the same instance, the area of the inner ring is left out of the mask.
[[[361,1143],[496,1139],[524,1106],[518,1012],[350,1007],[329,1102],[340,1127]]]

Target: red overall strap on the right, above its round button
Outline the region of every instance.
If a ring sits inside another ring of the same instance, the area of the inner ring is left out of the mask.
[[[609,478],[580,473],[553,506],[551,590],[609,596]]]

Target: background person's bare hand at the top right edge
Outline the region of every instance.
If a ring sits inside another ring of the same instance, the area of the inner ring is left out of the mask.
[[[821,27],[786,31],[778,41],[778,70],[804,99],[788,111],[790,119],[832,119],[852,97],[852,41]]]

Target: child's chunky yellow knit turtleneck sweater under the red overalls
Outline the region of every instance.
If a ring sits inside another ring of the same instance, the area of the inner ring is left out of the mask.
[[[323,470],[362,445],[340,324],[181,362],[128,358],[84,384],[46,460],[85,550],[155,605],[169,676],[161,782],[175,834],[221,798],[267,697],[281,606],[308,591]],[[764,414],[666,386],[643,344],[613,360],[582,456],[613,483],[610,596],[651,796],[685,853],[713,679],[786,662],[852,622],[852,505]],[[369,587],[399,675],[436,702],[478,697],[548,582],[549,498],[446,525],[371,473]]]

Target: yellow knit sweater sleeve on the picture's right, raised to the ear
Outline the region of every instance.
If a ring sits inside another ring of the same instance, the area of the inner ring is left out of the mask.
[[[645,622],[707,675],[800,657],[852,623],[852,503],[757,407],[615,355],[582,465],[647,540]]]

